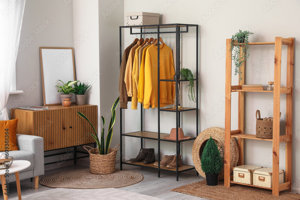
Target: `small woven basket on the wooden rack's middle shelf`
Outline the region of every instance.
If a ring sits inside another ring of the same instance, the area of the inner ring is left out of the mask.
[[[258,118],[257,118],[258,114]],[[281,116],[281,112],[279,117]],[[264,121],[260,118],[260,111],[256,110],[256,137],[263,139],[273,138],[273,121]]]

